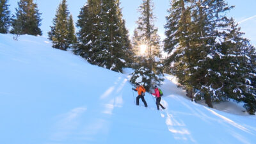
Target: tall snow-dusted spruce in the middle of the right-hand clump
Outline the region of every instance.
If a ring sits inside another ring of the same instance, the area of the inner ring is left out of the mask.
[[[198,0],[193,3],[195,8],[192,12],[193,21],[193,50],[198,53],[193,58],[193,65],[197,67],[198,72],[192,74],[196,81],[195,88],[198,90],[197,97],[205,99],[205,103],[212,108],[212,101],[223,101],[226,95],[223,93],[223,75],[221,75],[222,55],[218,51],[218,43],[225,40],[218,33],[220,29],[227,28],[228,19],[225,17],[225,12],[233,6],[228,6],[225,1],[202,1]],[[227,65],[226,65],[227,66]],[[224,87],[225,88],[225,87]]]

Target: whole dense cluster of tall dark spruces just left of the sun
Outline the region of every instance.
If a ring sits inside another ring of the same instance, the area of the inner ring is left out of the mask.
[[[77,22],[79,46],[75,52],[94,65],[122,72],[130,44],[118,6],[115,0],[88,1]]]

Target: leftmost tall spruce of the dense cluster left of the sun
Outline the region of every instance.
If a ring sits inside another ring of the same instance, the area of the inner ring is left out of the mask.
[[[100,51],[100,10],[100,0],[88,0],[81,8],[76,24],[79,28],[77,33],[79,44],[74,52],[94,65],[96,63],[92,58],[93,53]]]

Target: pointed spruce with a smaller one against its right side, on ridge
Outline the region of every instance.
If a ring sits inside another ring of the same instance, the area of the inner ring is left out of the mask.
[[[67,8],[67,1],[63,0],[52,20],[53,26],[48,32],[52,47],[66,51],[76,41],[73,19]]]

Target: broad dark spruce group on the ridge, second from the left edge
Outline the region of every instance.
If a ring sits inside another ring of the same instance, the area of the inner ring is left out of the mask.
[[[13,16],[13,29],[10,32],[17,35],[42,35],[39,28],[42,13],[39,13],[37,4],[33,3],[33,0],[20,0],[18,6],[18,8],[15,8],[16,15]]]

